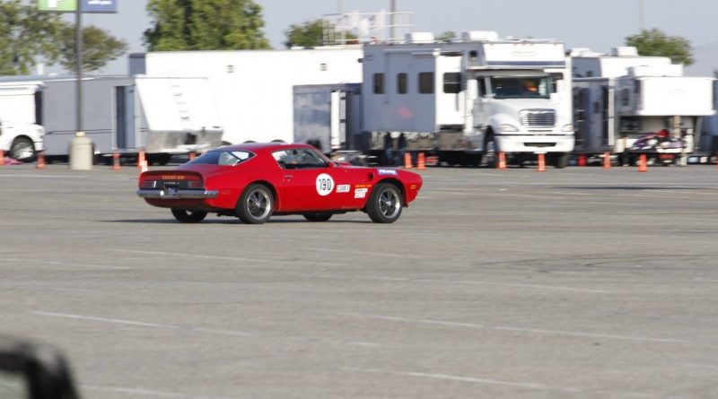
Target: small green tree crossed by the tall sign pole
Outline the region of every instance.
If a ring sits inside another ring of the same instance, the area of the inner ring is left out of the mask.
[[[74,25],[66,24],[60,33],[60,65],[74,71],[76,66],[74,48]],[[83,71],[92,72],[102,69],[113,59],[127,52],[127,42],[110,35],[106,30],[95,26],[83,28]]]

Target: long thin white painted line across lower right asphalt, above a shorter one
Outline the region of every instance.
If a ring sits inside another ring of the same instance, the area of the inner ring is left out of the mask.
[[[634,336],[634,335],[586,333],[586,332],[582,332],[582,331],[546,330],[546,329],[542,329],[542,328],[514,327],[514,326],[505,326],[505,325],[479,325],[479,324],[475,324],[475,323],[460,323],[460,322],[451,322],[451,321],[442,321],[442,320],[394,317],[394,316],[372,315],[372,314],[363,314],[363,313],[339,313],[339,315],[375,318],[375,319],[379,319],[379,320],[397,321],[400,323],[425,324],[425,325],[445,325],[445,326],[450,326],[450,327],[464,327],[464,328],[474,328],[474,329],[494,330],[494,331],[511,331],[511,332],[516,332],[516,333],[559,335],[559,336],[569,336],[569,337],[578,337],[578,338],[603,338],[603,339],[620,340],[620,341],[638,341],[638,342],[645,342],[645,343],[691,344],[690,341],[677,340],[677,339],[672,339],[672,338],[655,338],[655,337]]]

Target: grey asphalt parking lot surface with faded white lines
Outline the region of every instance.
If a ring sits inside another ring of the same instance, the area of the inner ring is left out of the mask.
[[[0,167],[2,331],[85,398],[718,397],[715,166],[422,175],[391,225],[186,225],[132,167]]]

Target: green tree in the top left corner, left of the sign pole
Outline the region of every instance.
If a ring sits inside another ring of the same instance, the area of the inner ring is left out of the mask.
[[[0,0],[0,74],[29,74],[40,56],[48,64],[54,64],[60,56],[60,16],[22,3]]]

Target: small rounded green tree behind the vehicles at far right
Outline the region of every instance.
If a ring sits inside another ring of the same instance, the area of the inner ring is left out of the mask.
[[[641,56],[668,56],[673,63],[693,64],[690,41],[655,28],[627,37],[626,45],[637,48]]]

